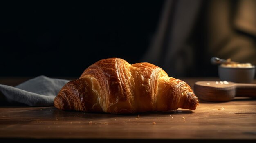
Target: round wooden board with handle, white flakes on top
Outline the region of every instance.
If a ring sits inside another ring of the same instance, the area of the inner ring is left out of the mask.
[[[228,83],[228,84],[227,84]],[[234,97],[256,97],[256,84],[240,84],[218,81],[198,81],[194,85],[195,95],[205,101],[231,101]]]

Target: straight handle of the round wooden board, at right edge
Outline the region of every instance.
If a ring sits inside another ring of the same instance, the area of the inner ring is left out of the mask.
[[[236,96],[256,97],[256,84],[236,84]]]

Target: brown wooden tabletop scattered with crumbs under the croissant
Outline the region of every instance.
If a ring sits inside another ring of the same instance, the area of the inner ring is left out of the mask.
[[[193,86],[195,81],[216,78],[182,80]],[[200,101],[194,111],[178,109],[132,115],[68,112],[55,107],[0,107],[1,142],[150,143],[241,140],[256,141],[255,99],[236,98],[224,103]]]

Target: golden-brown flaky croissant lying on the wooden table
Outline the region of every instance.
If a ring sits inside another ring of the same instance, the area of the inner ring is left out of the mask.
[[[146,111],[195,110],[198,98],[184,81],[169,77],[150,63],[102,59],[70,81],[54,99],[61,110],[130,114]]]

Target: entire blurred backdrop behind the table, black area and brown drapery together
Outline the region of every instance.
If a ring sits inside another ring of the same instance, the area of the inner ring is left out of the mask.
[[[0,77],[79,77],[100,59],[171,77],[218,76],[211,57],[256,64],[256,0],[0,4]]]

